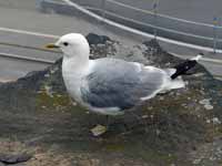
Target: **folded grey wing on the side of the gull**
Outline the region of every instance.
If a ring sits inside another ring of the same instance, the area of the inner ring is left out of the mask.
[[[107,61],[97,63],[85,77],[88,89],[81,89],[83,101],[93,107],[130,108],[141,97],[152,95],[163,83],[163,73],[158,69],[139,70],[140,66],[130,62]]]

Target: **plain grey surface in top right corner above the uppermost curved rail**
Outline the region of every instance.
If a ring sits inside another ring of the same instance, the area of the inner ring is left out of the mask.
[[[117,0],[144,10],[151,10],[154,0]],[[213,17],[222,17],[221,0],[159,0],[158,11],[162,14],[191,20],[195,22],[213,23]]]

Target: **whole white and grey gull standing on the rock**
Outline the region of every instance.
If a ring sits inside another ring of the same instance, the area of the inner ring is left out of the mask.
[[[89,111],[113,116],[157,94],[184,87],[180,75],[201,58],[199,54],[174,69],[112,58],[90,60],[89,43],[80,33],[64,34],[47,48],[59,48],[63,52],[62,77],[70,96]]]

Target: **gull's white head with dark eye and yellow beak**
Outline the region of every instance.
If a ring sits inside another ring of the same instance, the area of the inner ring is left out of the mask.
[[[90,53],[89,43],[80,33],[64,34],[54,44],[48,44],[47,48],[59,48],[67,58],[89,56]]]

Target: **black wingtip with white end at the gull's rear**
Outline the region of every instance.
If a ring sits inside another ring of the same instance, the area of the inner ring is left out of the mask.
[[[198,61],[203,56],[203,53],[199,53],[195,58],[192,58],[190,60],[186,60],[183,63],[180,63],[174,66],[175,72],[171,75],[171,79],[174,80],[180,75],[186,74],[189,70],[195,66]]]

